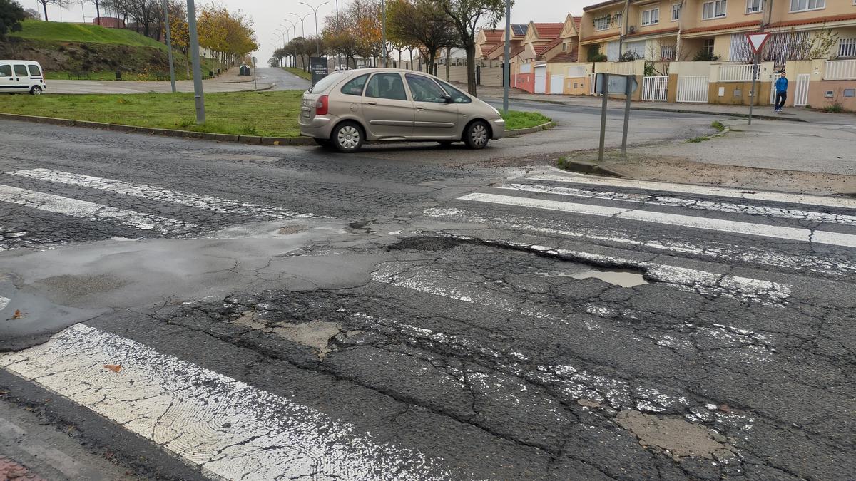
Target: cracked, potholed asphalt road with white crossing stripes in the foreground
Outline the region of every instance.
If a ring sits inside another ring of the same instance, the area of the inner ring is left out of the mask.
[[[856,472],[853,199],[32,127],[0,399],[140,477]]]

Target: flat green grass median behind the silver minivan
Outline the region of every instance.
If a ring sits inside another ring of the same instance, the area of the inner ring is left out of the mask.
[[[0,112],[214,134],[296,137],[300,135],[297,117],[302,94],[300,91],[207,93],[207,122],[201,125],[196,125],[193,93],[2,95]],[[550,122],[534,112],[509,111],[506,118],[508,129]]]

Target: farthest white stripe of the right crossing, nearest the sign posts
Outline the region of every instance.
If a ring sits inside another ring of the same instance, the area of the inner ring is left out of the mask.
[[[565,182],[591,186],[628,187],[644,190],[657,190],[671,193],[689,193],[710,195],[716,197],[732,197],[735,199],[770,200],[783,204],[824,205],[826,207],[841,207],[856,209],[856,199],[845,199],[823,195],[805,195],[800,193],[780,193],[770,191],[750,191],[731,187],[705,187],[689,184],[670,184],[656,181],[633,181],[630,179],[612,179],[594,175],[532,175],[527,177],[532,181]]]

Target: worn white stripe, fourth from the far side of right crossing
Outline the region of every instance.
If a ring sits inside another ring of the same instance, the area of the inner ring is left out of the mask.
[[[558,237],[578,237],[591,241],[614,242],[628,246],[645,246],[664,252],[695,254],[718,260],[736,259],[752,264],[787,267],[789,269],[805,269],[823,274],[833,274],[835,276],[856,276],[856,264],[849,263],[847,259],[843,258],[834,259],[829,258],[829,256],[818,258],[811,254],[793,256],[782,252],[757,249],[754,246],[735,246],[723,242],[710,242],[708,245],[698,246],[689,242],[645,239],[633,232],[621,232],[603,228],[588,229],[576,226],[561,226],[561,223],[557,226],[555,220],[549,223],[544,220],[544,225],[535,225],[532,223],[535,220],[532,217],[508,215],[484,217],[479,212],[467,211],[466,209],[431,208],[426,209],[424,213],[428,217],[454,219],[463,223],[490,224],[504,229],[528,230]],[[547,225],[554,227],[546,227]]]

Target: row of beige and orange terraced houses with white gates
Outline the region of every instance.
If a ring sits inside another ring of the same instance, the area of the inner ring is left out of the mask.
[[[752,98],[746,33],[770,33]],[[511,26],[512,86],[591,94],[593,74],[644,77],[639,100],[767,104],[785,71],[790,105],[856,110],[856,0],[608,0],[562,22]],[[505,32],[482,29],[476,54],[502,61]]]

